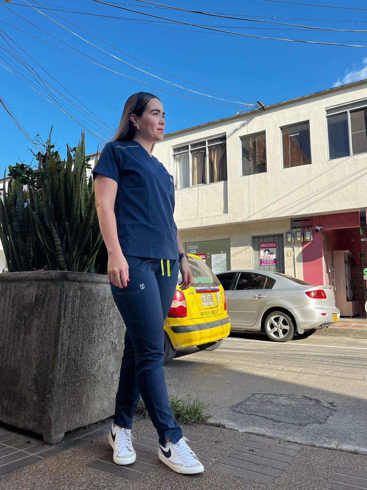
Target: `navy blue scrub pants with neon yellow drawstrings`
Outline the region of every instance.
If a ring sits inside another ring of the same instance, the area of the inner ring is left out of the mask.
[[[173,443],[182,437],[182,430],[172,416],[163,370],[163,322],[175,294],[179,260],[133,257],[125,255],[130,281],[124,289],[112,283],[117,308],[125,322],[125,346],[120,381],[116,393],[115,424],[131,429],[133,415],[143,399],[160,444],[165,437]]]

